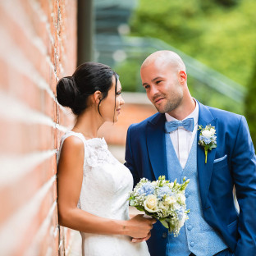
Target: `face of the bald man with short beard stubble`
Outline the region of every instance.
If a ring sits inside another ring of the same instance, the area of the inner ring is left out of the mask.
[[[158,112],[171,112],[181,104],[183,89],[179,82],[179,72],[170,65],[151,63],[140,71],[142,85],[149,100]]]

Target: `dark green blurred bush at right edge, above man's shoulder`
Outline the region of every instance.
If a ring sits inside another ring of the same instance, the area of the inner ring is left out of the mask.
[[[255,63],[256,64],[256,63]],[[248,85],[248,93],[245,98],[245,117],[247,118],[250,134],[254,147],[256,147],[256,65],[254,75]]]

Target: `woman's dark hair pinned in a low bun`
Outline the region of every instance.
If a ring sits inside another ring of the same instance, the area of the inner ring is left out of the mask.
[[[77,67],[73,75],[65,76],[58,81],[57,101],[63,107],[70,107],[78,116],[89,107],[89,95],[98,90],[103,94],[98,103],[99,112],[99,104],[107,98],[108,91],[112,88],[113,75],[116,79],[115,95],[117,95],[117,73],[112,71],[110,66],[98,62],[85,62]]]

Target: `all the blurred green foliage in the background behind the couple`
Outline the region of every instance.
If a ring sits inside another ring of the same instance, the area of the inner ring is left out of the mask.
[[[192,95],[203,103],[246,113],[252,120],[256,113],[255,10],[255,0],[140,0],[130,18],[131,35],[162,39],[248,88],[244,107],[191,78],[188,82]],[[135,85],[141,62],[127,59],[118,65],[125,90],[141,90]],[[254,144],[255,122],[249,120]]]

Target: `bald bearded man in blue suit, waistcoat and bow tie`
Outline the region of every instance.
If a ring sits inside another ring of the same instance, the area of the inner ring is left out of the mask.
[[[245,117],[192,98],[176,53],[151,54],[141,66],[141,79],[158,113],[129,127],[126,167],[135,184],[142,177],[190,178],[189,220],[178,237],[157,222],[148,240],[151,256],[255,256],[256,158]],[[205,163],[198,127],[208,125],[215,127],[217,148],[208,150]]]

